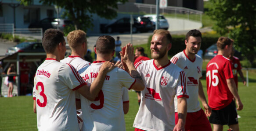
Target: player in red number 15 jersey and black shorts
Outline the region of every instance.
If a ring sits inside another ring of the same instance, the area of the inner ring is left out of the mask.
[[[232,131],[239,131],[237,110],[243,109],[243,104],[238,95],[231,62],[227,57],[232,51],[233,41],[227,37],[220,37],[217,41],[218,54],[209,61],[206,67],[206,85],[209,106],[212,114],[209,117],[213,124],[213,131],[222,131],[227,124]]]

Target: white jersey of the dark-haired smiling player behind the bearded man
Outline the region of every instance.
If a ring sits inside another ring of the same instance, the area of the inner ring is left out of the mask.
[[[186,55],[185,50],[173,56],[171,62],[184,70],[187,76],[187,92],[189,99],[187,99],[187,112],[196,112],[201,109],[198,101],[198,84],[202,77],[202,58],[195,55],[192,61]],[[174,99],[175,112],[177,112],[177,97]]]

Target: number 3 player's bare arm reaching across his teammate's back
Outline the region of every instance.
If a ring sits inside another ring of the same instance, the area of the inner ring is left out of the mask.
[[[103,65],[101,66],[98,76],[94,80],[94,82],[91,84],[91,86],[84,85],[81,88],[77,89],[77,91],[83,95],[83,97],[87,98],[88,100],[95,100],[97,97],[98,93],[100,92],[105,76],[107,72],[111,71],[114,69],[116,66],[114,66],[111,62],[104,62]]]

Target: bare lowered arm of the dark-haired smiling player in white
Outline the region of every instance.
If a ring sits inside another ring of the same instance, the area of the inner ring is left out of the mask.
[[[201,100],[203,107],[205,108],[206,117],[211,116],[212,109],[211,109],[211,107],[209,107],[209,105],[206,101],[206,96],[205,96],[203,86],[202,86],[202,83],[201,83],[200,79],[199,79],[199,85],[198,85],[198,97]]]

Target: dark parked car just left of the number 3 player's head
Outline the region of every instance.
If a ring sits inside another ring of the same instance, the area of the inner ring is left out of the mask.
[[[16,52],[45,52],[40,42],[22,42],[6,50],[5,55],[12,55]]]

